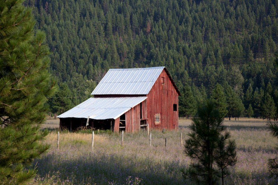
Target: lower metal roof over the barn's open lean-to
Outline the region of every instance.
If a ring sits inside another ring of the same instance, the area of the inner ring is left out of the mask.
[[[89,98],[58,118],[117,119],[147,97]]]

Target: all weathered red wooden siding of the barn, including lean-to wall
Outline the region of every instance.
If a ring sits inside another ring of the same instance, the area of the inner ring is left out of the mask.
[[[94,97],[138,97],[148,98],[125,113],[125,132],[140,130],[141,120],[146,120],[152,129],[178,129],[178,92],[165,69],[161,72],[147,95],[95,95]],[[173,105],[177,110],[173,110]],[[154,123],[155,114],[160,114],[160,124]],[[115,120],[114,132],[119,132],[120,118]]]

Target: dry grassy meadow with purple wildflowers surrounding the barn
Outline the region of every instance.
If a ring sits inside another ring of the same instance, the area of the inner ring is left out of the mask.
[[[180,170],[190,163],[180,145],[189,132],[190,120],[179,120],[178,131],[152,130],[152,146],[147,132],[92,135],[60,132],[57,149],[58,120],[47,120],[43,128],[53,131],[45,142],[48,153],[34,162],[37,176],[30,184],[191,184]],[[278,143],[266,130],[266,120],[225,120],[224,124],[237,143],[238,161],[225,178],[225,184],[278,184],[268,178],[267,160],[276,155]],[[167,147],[165,147],[167,138]]]

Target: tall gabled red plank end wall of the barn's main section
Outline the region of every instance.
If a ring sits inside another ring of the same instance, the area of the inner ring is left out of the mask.
[[[162,77],[164,79],[162,79]],[[164,81],[164,83],[162,83]],[[178,129],[178,92],[163,70],[147,95],[148,123],[155,129]],[[173,104],[177,111],[173,111]],[[160,114],[161,123],[154,123],[154,115]]]

